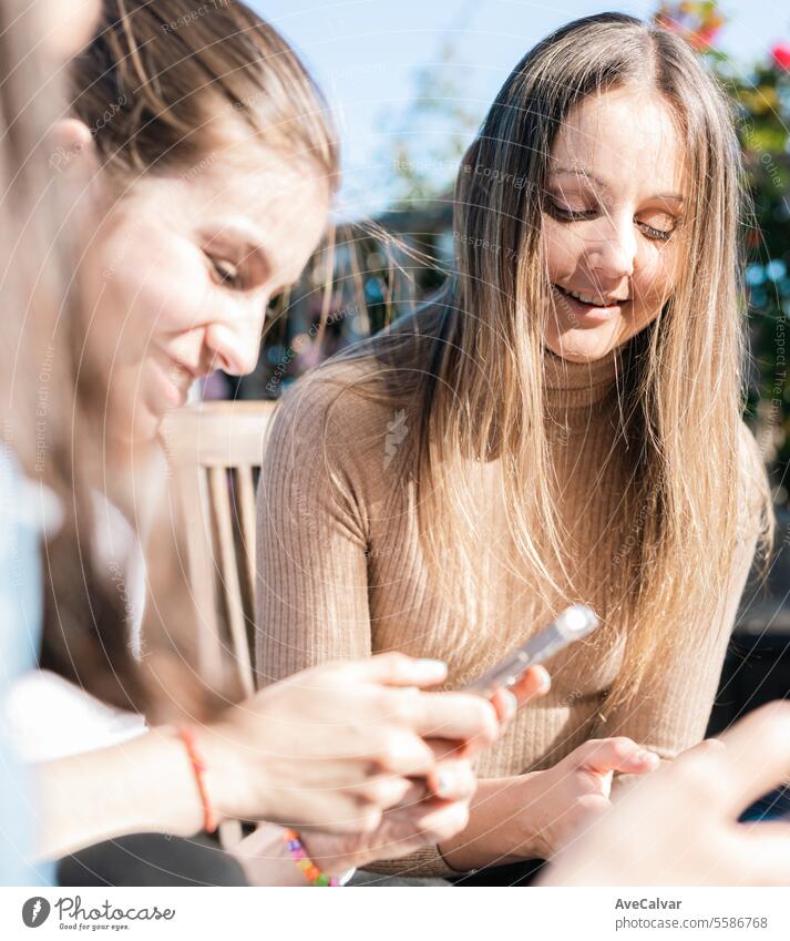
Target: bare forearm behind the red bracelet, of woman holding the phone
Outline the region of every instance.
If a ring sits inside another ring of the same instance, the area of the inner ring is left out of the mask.
[[[189,836],[203,807],[184,745],[168,729],[35,768],[42,825],[35,856],[57,859],[135,832]]]

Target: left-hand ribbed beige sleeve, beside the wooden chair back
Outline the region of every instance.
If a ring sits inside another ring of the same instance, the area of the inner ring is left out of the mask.
[[[267,437],[257,498],[261,686],[371,652],[366,516],[336,396],[330,383],[298,383]]]

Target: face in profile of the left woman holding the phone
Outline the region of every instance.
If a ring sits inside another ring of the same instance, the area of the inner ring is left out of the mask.
[[[324,232],[319,176],[256,156],[255,171],[219,168],[209,156],[183,177],[142,178],[91,239],[89,356],[123,440],[155,437],[196,379],[255,368],[269,300]]]

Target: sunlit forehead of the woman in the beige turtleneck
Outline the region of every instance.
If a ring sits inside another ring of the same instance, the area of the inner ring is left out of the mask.
[[[561,166],[583,167],[618,191],[683,192],[686,178],[671,108],[644,89],[604,91],[577,104],[552,146],[550,171]],[[562,181],[568,185],[573,177],[563,175]]]

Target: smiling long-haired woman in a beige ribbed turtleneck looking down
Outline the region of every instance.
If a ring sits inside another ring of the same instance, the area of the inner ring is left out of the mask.
[[[603,621],[478,761],[469,828],[409,871],[551,856],[606,805],[592,737],[666,758],[702,737],[773,535],[741,419],[747,208],[690,48],[619,13],[568,23],[463,158],[443,291],[287,397],[259,495],[261,676],[399,650],[447,658],[458,688],[565,604]]]

